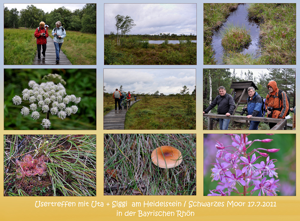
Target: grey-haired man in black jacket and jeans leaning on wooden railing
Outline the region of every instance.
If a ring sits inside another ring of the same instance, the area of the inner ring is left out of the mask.
[[[230,94],[226,93],[226,89],[223,86],[218,88],[219,94],[213,102],[203,111],[203,114],[207,114],[208,111],[218,105],[218,114],[225,114],[227,117],[233,114],[234,111],[234,100]],[[227,130],[230,119],[219,118],[220,130]]]

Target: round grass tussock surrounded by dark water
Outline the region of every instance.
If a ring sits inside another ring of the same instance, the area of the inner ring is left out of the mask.
[[[222,33],[222,37],[222,46],[227,52],[240,52],[251,42],[249,30],[246,30],[244,26],[233,24],[227,26]]]

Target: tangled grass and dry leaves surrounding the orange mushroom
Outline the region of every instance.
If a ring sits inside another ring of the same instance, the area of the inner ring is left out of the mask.
[[[166,176],[151,160],[164,145],[183,158]],[[104,195],[196,195],[196,135],[104,134]]]

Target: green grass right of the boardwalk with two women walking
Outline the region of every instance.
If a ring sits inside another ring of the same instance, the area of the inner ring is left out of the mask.
[[[81,33],[79,31],[66,31],[67,37],[61,50],[72,64],[95,65],[96,64],[96,34]],[[51,33],[49,36],[52,37]]]

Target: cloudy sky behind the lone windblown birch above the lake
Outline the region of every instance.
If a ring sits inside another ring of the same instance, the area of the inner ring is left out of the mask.
[[[116,33],[116,15],[130,16],[130,34],[197,34],[196,4],[104,4],[104,34]]]

